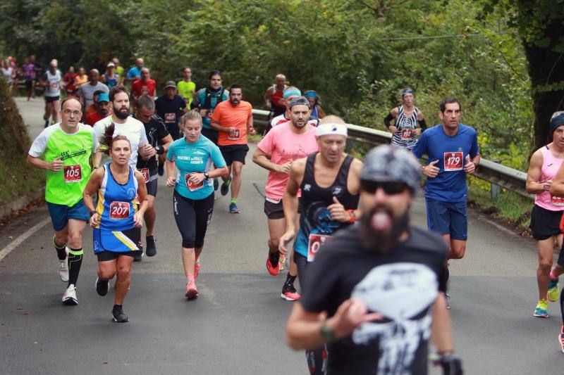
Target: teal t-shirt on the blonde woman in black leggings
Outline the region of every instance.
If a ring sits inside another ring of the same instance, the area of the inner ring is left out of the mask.
[[[201,200],[212,194],[214,181],[204,179],[197,186],[188,186],[188,175],[195,172],[209,172],[212,170],[212,165],[215,165],[216,168],[226,166],[219,147],[203,135],[193,144],[186,142],[185,138],[173,141],[168,147],[166,158],[175,162],[178,169],[174,189],[181,196],[194,200]]]

